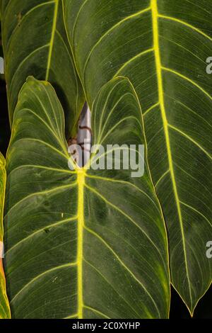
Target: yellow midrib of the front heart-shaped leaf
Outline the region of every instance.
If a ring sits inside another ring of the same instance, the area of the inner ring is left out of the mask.
[[[84,184],[86,171],[77,170],[78,183],[78,233],[77,233],[77,283],[78,319],[83,319],[83,227],[84,227]]]

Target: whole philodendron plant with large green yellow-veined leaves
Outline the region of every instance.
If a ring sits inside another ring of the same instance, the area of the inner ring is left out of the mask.
[[[211,1],[0,4],[0,317],[167,318],[171,284],[193,315],[212,276]],[[120,164],[143,145],[143,175],[96,168],[98,149],[74,162],[85,102],[93,145]]]

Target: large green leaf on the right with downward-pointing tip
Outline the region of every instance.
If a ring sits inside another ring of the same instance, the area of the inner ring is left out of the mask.
[[[211,0],[64,0],[88,103],[129,77],[141,103],[165,215],[172,284],[190,312],[211,284]]]

